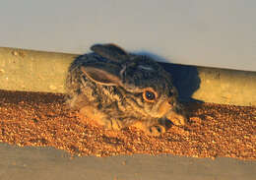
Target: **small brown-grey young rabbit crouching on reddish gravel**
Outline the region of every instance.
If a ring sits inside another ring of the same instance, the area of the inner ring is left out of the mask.
[[[151,136],[163,134],[167,121],[186,124],[171,76],[158,62],[112,43],[91,50],[71,63],[66,78],[67,103],[81,117],[107,130],[135,126]]]

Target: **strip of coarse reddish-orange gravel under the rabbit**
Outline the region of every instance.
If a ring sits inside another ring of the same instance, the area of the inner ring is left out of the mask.
[[[170,126],[160,137],[135,128],[105,131],[81,120],[64,94],[0,90],[0,142],[54,147],[74,155],[173,154],[256,159],[256,107],[184,104],[185,127]]]

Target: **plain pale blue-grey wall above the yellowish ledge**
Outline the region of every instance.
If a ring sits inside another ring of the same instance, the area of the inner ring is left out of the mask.
[[[0,23],[0,46],[85,53],[115,42],[160,61],[256,71],[255,0],[1,0]]]

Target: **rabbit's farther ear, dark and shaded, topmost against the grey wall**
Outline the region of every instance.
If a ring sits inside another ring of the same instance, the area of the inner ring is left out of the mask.
[[[125,52],[125,50],[111,43],[93,45],[91,50],[106,59],[119,63],[122,63],[128,59],[128,54]]]

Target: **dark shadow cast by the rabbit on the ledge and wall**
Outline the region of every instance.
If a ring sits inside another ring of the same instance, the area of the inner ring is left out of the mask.
[[[179,92],[180,101],[203,102],[201,100],[194,99],[191,97],[192,94],[200,88],[201,83],[196,67],[171,63],[162,63],[168,61],[157,54],[147,51],[139,51],[136,53],[140,55],[147,55],[149,57],[156,59],[157,61],[160,61],[160,65],[172,76],[173,84]]]

